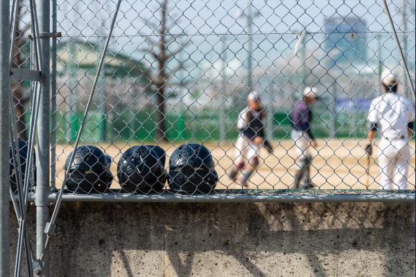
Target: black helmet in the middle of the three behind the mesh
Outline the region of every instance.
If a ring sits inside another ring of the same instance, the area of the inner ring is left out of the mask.
[[[128,193],[160,193],[167,179],[165,151],[156,145],[135,145],[117,164],[121,188]]]

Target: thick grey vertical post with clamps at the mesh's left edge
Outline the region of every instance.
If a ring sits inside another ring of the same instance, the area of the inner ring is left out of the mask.
[[[44,233],[46,223],[49,222],[49,199],[48,195],[51,190],[50,186],[50,138],[51,134],[51,95],[50,91],[50,20],[51,6],[50,1],[42,0],[37,5],[37,16],[40,32],[40,60],[42,68],[42,91],[40,96],[40,109],[37,117],[37,179],[36,179],[36,257],[40,258],[42,254],[46,258],[43,260],[42,276],[49,276],[49,251],[44,251],[46,242],[46,233]]]

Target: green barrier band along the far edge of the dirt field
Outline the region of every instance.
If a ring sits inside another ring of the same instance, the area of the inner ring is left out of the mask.
[[[222,141],[235,140],[239,135],[235,127],[237,111],[229,111],[221,118],[218,111],[199,111],[196,115],[191,111],[182,115],[171,112],[166,114],[166,136],[169,141]],[[74,141],[83,114],[57,114],[58,142]],[[289,139],[291,122],[284,112],[273,114],[272,137],[274,139]],[[92,111],[85,123],[81,138],[83,141],[153,141],[156,135],[156,114],[152,111],[141,110],[135,113],[125,111],[103,116],[99,111]],[[329,113],[315,116],[313,133],[320,138],[365,136],[364,114]]]

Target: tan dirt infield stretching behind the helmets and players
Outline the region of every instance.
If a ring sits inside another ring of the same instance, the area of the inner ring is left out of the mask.
[[[322,189],[363,189],[365,188],[365,169],[367,167],[367,157],[364,153],[366,141],[357,141],[354,139],[330,139],[328,141],[318,140],[318,148],[313,150],[311,176],[315,185]],[[133,144],[109,144],[98,143],[98,146],[105,154],[112,157],[112,166],[110,170],[114,175],[112,188],[119,188],[117,182],[116,170],[117,162],[121,154]],[[291,140],[272,141],[275,147],[273,154],[268,154],[264,149],[260,150],[260,166],[257,172],[250,179],[247,188],[262,189],[281,189],[288,188],[293,182],[293,170],[295,169],[295,151]],[[171,153],[178,145],[167,143],[159,145],[166,150],[166,168]],[[235,157],[235,150],[232,143],[206,143],[205,146],[211,150],[211,154],[216,160],[216,171],[220,180],[216,188],[218,189],[236,189],[241,188],[227,177],[226,173],[232,166]],[[410,143],[411,152],[415,153],[415,141]],[[57,181],[56,186],[60,188],[64,179],[64,162],[67,155],[73,150],[71,145],[58,145],[56,148],[57,162]],[[374,151],[376,152],[376,151]],[[378,189],[379,185],[379,166],[374,160],[376,154],[373,154],[370,166],[369,188]],[[411,157],[410,176],[408,177],[409,188],[415,186],[415,155]]]

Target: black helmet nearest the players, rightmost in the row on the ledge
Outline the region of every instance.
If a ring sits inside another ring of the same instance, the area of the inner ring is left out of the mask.
[[[209,193],[218,182],[211,152],[198,143],[176,148],[169,160],[168,186],[178,193]]]

